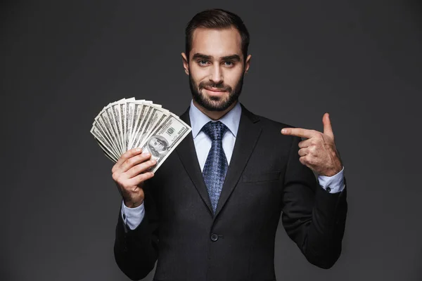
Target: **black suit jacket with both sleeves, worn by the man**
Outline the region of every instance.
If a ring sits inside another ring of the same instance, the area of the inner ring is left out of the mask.
[[[188,110],[181,119],[190,124]],[[307,260],[330,268],[341,252],[346,189],[329,193],[299,162],[299,137],[286,124],[242,105],[233,155],[217,210],[200,171],[190,133],[146,182],[145,217],[124,231],[120,212],[115,260],[132,280],[276,280],[274,240],[282,213],[288,236]]]

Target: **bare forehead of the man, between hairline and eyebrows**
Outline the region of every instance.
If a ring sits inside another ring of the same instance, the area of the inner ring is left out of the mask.
[[[192,53],[203,53],[213,58],[242,55],[241,34],[234,27],[222,29],[198,27],[193,31]]]

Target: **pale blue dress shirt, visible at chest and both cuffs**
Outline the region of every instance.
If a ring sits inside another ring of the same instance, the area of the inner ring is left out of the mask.
[[[222,138],[223,150],[226,155],[227,162],[230,164],[231,155],[233,153],[234,143],[236,141],[236,135],[241,121],[242,107],[240,103],[237,103],[229,112],[224,115],[220,122],[227,126],[229,130],[224,133]],[[210,151],[212,141],[201,129],[205,124],[210,121],[210,117],[207,117],[203,112],[193,105],[191,100],[191,107],[189,109],[189,117],[191,119],[191,128],[193,143],[195,144],[196,155],[198,155],[198,162],[200,170],[202,171],[207,160],[208,152]],[[217,121],[217,120],[216,120]],[[335,174],[334,176],[318,176],[319,185],[322,188],[330,187],[331,193],[341,192],[344,188],[343,182],[343,169]],[[131,229],[134,230],[141,223],[145,214],[145,208],[143,203],[136,208],[128,208],[122,201],[122,218],[124,223]]]

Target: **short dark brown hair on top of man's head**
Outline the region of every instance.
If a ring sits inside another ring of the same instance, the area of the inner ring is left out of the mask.
[[[192,48],[192,35],[196,28],[205,27],[224,29],[231,26],[235,27],[236,30],[238,30],[238,32],[241,34],[243,60],[246,60],[249,46],[249,32],[246,29],[243,20],[238,15],[229,11],[224,11],[223,9],[210,9],[202,11],[193,16],[193,18],[188,22],[185,30],[186,58],[189,60],[189,53],[191,52]]]

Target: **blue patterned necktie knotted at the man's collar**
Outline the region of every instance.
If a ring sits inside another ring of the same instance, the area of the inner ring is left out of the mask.
[[[207,185],[212,210],[214,212],[215,209],[217,209],[219,195],[222,191],[227,169],[229,168],[222,143],[222,138],[227,129],[228,128],[219,121],[210,121],[205,124],[202,129],[212,141],[210,152],[208,152],[207,160],[205,161],[203,177],[205,185]]]

